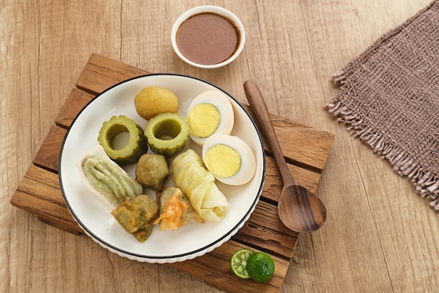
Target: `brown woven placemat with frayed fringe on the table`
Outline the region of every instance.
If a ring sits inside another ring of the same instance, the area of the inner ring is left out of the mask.
[[[379,37],[332,79],[339,92],[325,108],[439,210],[439,2]]]

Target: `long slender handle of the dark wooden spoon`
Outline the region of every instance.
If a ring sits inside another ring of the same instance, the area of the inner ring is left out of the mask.
[[[262,96],[259,87],[252,80],[248,80],[244,82],[244,91],[253,112],[255,112],[259,124],[262,126],[262,131],[271,146],[271,151],[278,163],[279,171],[281,171],[283,185],[296,185],[295,180],[290,173],[290,169],[288,169],[288,165],[285,162],[285,157],[283,157],[281,146],[279,145],[278,138],[276,137],[273,125],[271,124],[269,112],[266,109],[264,97]]]

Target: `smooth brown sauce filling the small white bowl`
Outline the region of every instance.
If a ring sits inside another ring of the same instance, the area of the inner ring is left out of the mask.
[[[216,13],[199,13],[184,20],[177,30],[177,47],[194,63],[213,65],[229,59],[241,36],[231,20]]]

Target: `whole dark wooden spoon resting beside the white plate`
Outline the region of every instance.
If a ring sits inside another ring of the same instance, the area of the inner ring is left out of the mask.
[[[262,126],[262,131],[271,145],[271,151],[279,171],[281,171],[283,189],[278,202],[278,214],[281,221],[285,226],[298,233],[318,230],[326,220],[325,205],[316,195],[303,186],[297,185],[295,179],[292,178],[257,84],[251,80],[246,81],[244,91],[259,124]]]

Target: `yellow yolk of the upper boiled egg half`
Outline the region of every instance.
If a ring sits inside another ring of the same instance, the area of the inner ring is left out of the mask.
[[[208,137],[217,130],[221,114],[214,105],[201,103],[191,109],[187,115],[187,121],[189,131],[193,136]]]

